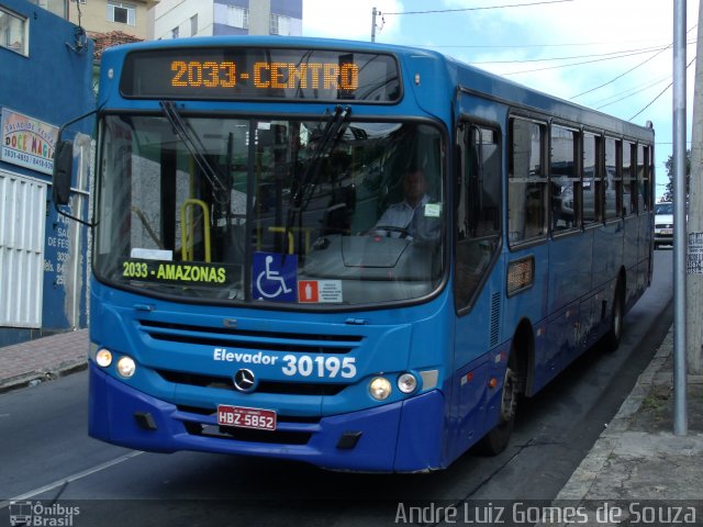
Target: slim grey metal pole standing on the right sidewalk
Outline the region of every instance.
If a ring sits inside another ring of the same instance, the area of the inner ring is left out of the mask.
[[[673,0],[673,434],[677,436],[688,434],[685,249],[685,0]]]

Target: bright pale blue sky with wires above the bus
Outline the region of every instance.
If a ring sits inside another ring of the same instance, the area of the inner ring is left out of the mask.
[[[689,148],[699,0],[682,1],[687,7],[685,63],[691,63],[687,68]],[[665,164],[672,153],[673,3],[303,0],[303,35],[370,41],[376,8],[381,13],[376,42],[434,49],[636,124],[651,121],[659,199],[668,182]]]

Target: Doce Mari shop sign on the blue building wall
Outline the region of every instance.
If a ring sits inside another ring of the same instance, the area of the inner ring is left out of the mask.
[[[54,170],[54,146],[58,126],[29,115],[2,109],[2,149],[5,162],[51,175]]]

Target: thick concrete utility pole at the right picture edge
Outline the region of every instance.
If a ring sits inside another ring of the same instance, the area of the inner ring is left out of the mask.
[[[687,367],[703,374],[703,0],[699,2],[699,41],[693,89],[691,133],[691,183],[689,188],[687,260]]]

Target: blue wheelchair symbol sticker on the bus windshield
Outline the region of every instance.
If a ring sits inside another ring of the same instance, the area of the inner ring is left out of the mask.
[[[298,301],[298,255],[254,253],[254,300]]]

